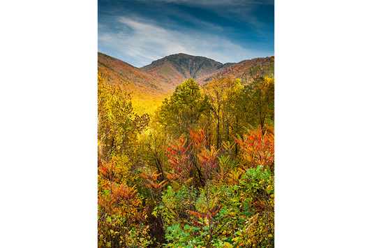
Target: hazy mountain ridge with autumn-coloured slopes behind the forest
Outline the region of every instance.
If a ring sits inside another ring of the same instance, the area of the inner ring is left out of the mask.
[[[200,86],[223,75],[240,78],[246,84],[257,76],[276,77],[276,56],[225,63],[184,53],[170,54],[137,68],[110,55],[96,52],[96,68],[105,70],[110,83],[133,92],[135,99],[162,99],[188,78]]]

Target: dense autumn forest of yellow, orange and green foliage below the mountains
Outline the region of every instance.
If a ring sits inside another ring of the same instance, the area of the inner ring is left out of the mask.
[[[98,247],[276,247],[267,59],[275,68],[241,61],[202,86],[188,78],[151,112],[96,71]]]

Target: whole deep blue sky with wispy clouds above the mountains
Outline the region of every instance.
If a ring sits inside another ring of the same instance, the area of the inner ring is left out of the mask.
[[[186,53],[221,63],[276,55],[276,0],[96,0],[96,51],[141,67]]]

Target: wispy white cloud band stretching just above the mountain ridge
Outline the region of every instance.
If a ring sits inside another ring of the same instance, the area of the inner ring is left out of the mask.
[[[112,21],[117,22],[115,31],[96,23],[96,50],[110,51],[110,56],[137,67],[180,52],[221,63],[262,57],[258,51],[242,48],[221,36],[188,29],[165,29],[156,22],[136,17],[116,17]]]

